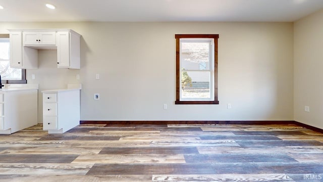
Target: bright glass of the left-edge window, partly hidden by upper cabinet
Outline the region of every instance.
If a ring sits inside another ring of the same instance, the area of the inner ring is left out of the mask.
[[[9,38],[1,38],[0,39],[0,75],[1,75],[1,78],[5,79],[5,80],[21,80],[22,70],[10,68],[9,51],[10,51]]]

